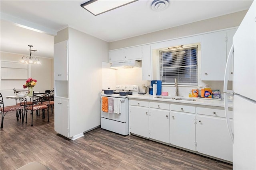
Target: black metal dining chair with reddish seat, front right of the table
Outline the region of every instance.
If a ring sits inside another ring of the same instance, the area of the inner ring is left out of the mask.
[[[45,119],[45,109],[48,113],[48,122],[49,122],[49,101],[50,101],[50,93],[44,92],[44,93],[34,93],[32,97],[32,105],[26,107],[26,123],[27,123],[27,113],[30,110],[32,113],[32,119],[31,119],[31,126],[33,126],[33,111],[39,111],[42,110],[42,118]],[[43,104],[43,102],[46,102],[47,104]]]

